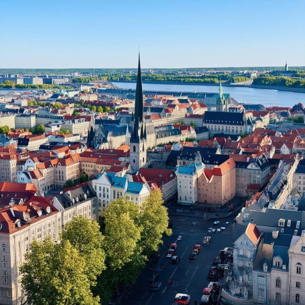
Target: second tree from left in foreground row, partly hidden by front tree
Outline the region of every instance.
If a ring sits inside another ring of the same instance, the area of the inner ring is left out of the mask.
[[[63,226],[62,241],[68,240],[85,260],[85,274],[91,285],[96,277],[105,270],[105,252],[102,249],[104,236],[99,224],[83,216],[74,217]]]

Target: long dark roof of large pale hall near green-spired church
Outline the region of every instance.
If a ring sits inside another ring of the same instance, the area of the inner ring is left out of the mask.
[[[206,111],[203,117],[205,124],[222,124],[222,125],[244,125],[243,113],[239,112],[222,112]]]

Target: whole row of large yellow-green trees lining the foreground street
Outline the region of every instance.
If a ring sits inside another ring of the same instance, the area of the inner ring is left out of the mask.
[[[163,234],[170,235],[160,190],[141,209],[126,197],[109,203],[98,224],[81,216],[63,227],[61,241],[34,241],[20,268],[28,303],[106,304],[135,281]]]

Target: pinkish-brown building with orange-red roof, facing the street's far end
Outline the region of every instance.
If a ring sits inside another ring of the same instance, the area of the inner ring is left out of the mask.
[[[224,205],[236,194],[236,164],[232,158],[205,168],[198,179],[198,202]]]

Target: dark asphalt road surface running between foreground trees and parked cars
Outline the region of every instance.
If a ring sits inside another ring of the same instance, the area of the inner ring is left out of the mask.
[[[158,266],[165,266],[159,272],[158,282],[162,285],[157,292],[150,290],[150,279],[153,271],[145,269],[138,277],[135,285],[130,289],[127,295],[121,300],[121,304],[133,305],[169,305],[174,302],[176,293],[187,293],[191,296],[191,304],[197,300],[200,304],[202,290],[210,281],[207,280],[210,267],[215,257],[219,256],[219,251],[225,247],[232,247],[231,238],[231,222],[234,217],[221,219],[221,224],[213,226],[214,219],[204,220],[198,219],[199,224],[192,227],[192,221],[197,219],[194,217],[171,216],[170,219],[174,223],[173,235],[164,240],[164,246],[160,249],[160,259]],[[202,250],[196,257],[194,262],[188,262],[188,257],[192,253],[193,246],[196,243],[202,244],[202,239],[206,236],[208,228],[220,228],[225,222],[230,224],[221,233],[209,233],[212,241],[209,245],[202,245]],[[178,265],[169,264],[166,258],[168,249],[167,242],[175,240],[182,235],[181,241],[178,241],[176,255],[180,257]],[[171,285],[167,285],[168,280],[172,280]]]

